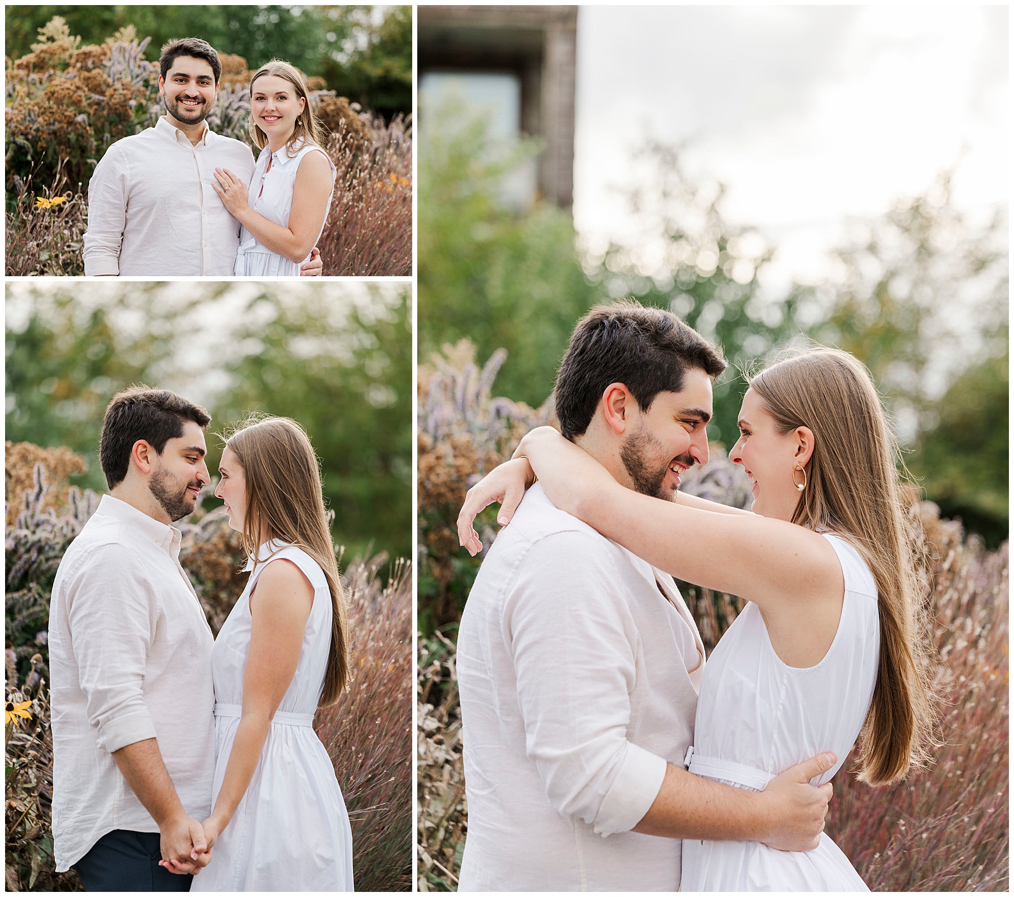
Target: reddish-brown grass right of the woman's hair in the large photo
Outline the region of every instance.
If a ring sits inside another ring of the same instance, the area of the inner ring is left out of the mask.
[[[930,608],[945,696],[943,745],[908,779],[871,789],[835,782],[827,827],[880,891],[1009,887],[1009,543],[987,552],[930,502],[919,516],[933,546]],[[846,768],[851,765],[847,761]]]

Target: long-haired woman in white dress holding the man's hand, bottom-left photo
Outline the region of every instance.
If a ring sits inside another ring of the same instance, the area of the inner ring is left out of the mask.
[[[349,816],[312,728],[350,678],[316,456],[297,424],[268,418],[229,437],[219,471],[250,576],[212,653],[213,849],[192,890],[352,891]]]

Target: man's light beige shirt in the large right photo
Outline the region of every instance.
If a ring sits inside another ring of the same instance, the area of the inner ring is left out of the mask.
[[[678,890],[682,842],[631,829],[682,765],[703,671],[672,577],[528,490],[458,631],[458,889]]]

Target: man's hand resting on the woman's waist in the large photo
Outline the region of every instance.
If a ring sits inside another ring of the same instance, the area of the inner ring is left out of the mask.
[[[758,841],[777,850],[812,850],[820,843],[832,789],[829,781],[814,788],[809,780],[830,769],[837,759],[832,753],[820,754],[768,782],[762,796],[771,833]]]

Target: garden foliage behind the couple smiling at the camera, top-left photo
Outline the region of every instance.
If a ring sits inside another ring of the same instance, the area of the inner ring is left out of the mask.
[[[193,34],[222,59],[208,117],[218,134],[249,142],[251,69],[272,56],[308,76],[338,169],[317,243],[324,274],[411,275],[411,7],[7,7],[6,16],[8,275],[83,274],[91,172],[114,142],[164,111],[159,48]]]

